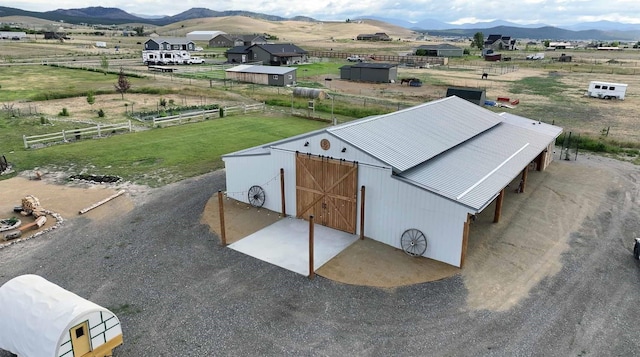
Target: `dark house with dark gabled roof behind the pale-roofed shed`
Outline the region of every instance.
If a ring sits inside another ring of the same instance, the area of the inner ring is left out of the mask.
[[[262,62],[270,66],[287,66],[307,61],[307,51],[293,44],[256,44],[227,50],[231,63]]]

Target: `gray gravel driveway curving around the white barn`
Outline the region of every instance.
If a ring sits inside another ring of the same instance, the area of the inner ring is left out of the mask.
[[[616,185],[571,234],[560,271],[506,311],[469,308],[459,275],[351,286],[222,248],[199,223],[224,189],[221,171],[156,189],[126,214],[74,218],[0,249],[0,284],[39,274],[113,310],[125,340],[116,357],[638,355],[640,170],[606,165]]]

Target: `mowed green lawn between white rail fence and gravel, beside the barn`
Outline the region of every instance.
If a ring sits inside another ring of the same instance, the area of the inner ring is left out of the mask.
[[[0,128],[8,125],[7,119],[0,119]],[[0,141],[0,154],[17,172],[49,167],[71,173],[115,175],[153,187],[220,169],[223,154],[325,125],[292,117],[234,116],[37,150],[22,148],[22,137],[13,135]]]

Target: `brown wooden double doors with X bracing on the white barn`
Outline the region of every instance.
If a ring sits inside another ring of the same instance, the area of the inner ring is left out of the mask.
[[[356,233],[358,163],[296,155],[296,216]]]

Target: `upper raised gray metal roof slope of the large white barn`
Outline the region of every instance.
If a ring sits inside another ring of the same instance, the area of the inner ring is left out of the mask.
[[[402,172],[501,121],[499,115],[452,96],[327,131]]]

